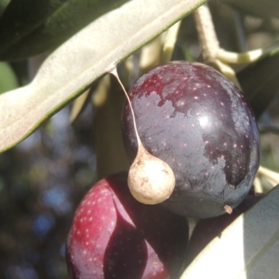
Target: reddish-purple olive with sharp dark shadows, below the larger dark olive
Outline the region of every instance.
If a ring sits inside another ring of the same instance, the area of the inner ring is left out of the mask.
[[[127,173],[96,183],[75,212],[66,246],[72,279],[177,278],[188,221],[130,194]]]

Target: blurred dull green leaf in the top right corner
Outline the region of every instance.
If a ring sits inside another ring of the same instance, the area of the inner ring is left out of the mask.
[[[278,0],[223,0],[248,15],[256,15],[270,20],[271,17],[279,17]]]

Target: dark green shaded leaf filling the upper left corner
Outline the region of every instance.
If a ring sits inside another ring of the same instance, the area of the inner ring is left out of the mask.
[[[13,0],[0,18],[0,59],[53,50],[100,15],[128,0]]]

